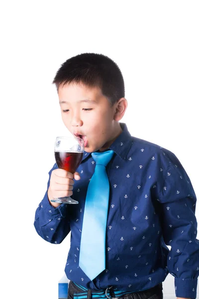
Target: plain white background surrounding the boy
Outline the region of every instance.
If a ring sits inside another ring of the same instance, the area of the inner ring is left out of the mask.
[[[199,197],[199,1],[7,0],[0,30],[0,298],[57,299],[70,235],[53,245],[33,226],[55,137],[68,134],[51,84],[56,71],[84,52],[112,58],[125,81],[122,122],[173,151]],[[175,298],[172,276],[163,287]]]

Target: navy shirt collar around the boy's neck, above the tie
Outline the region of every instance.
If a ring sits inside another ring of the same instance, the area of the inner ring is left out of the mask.
[[[119,124],[123,131],[111,144],[109,149],[113,150],[122,160],[125,160],[132,145],[132,137],[128,132],[126,124]],[[90,154],[91,152],[84,151],[82,160],[85,160]]]

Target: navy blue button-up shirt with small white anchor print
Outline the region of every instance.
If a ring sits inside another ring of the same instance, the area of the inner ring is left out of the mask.
[[[40,202],[34,226],[46,241],[59,244],[71,231],[65,267],[69,280],[87,289],[113,286],[143,291],[175,277],[177,297],[196,298],[199,276],[196,194],[176,155],[123,132],[109,149],[114,155],[106,171],[110,184],[106,227],[106,269],[90,281],[79,267],[80,241],[88,184],[95,161],[84,152],[77,171],[73,198],[79,204],[50,205],[47,191]],[[52,170],[49,171],[50,184]],[[98,233],[98,232],[96,232]],[[166,246],[171,246],[171,251]]]

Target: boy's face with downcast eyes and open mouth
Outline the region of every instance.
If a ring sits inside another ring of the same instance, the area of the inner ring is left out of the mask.
[[[67,84],[59,87],[58,96],[62,120],[74,136],[84,139],[85,150],[107,149],[120,128],[114,120],[116,105],[110,107],[99,87]]]

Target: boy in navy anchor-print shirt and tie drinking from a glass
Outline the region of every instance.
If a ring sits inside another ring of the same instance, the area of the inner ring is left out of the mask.
[[[63,63],[53,83],[62,120],[85,152],[74,174],[56,163],[50,170],[34,225],[53,244],[71,231],[68,297],[161,299],[170,272],[177,298],[196,298],[196,194],[174,153],[119,123],[127,108],[120,69],[84,53]],[[51,202],[64,196],[79,204]]]

